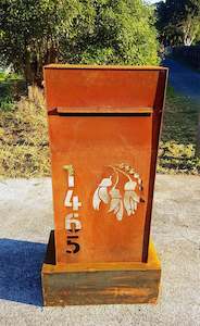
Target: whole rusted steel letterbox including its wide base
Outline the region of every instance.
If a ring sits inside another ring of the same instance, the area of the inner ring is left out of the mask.
[[[166,77],[154,66],[45,67],[54,204],[45,304],[157,300],[149,234]]]

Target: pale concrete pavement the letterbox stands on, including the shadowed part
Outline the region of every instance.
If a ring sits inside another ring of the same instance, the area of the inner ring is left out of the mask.
[[[200,178],[158,175],[152,234],[158,305],[42,308],[40,267],[53,227],[51,180],[0,181],[1,326],[199,326]]]

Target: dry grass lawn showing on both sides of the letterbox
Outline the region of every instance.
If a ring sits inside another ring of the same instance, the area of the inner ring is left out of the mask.
[[[0,102],[1,104],[1,102]],[[195,156],[198,104],[167,90],[158,172],[199,174]],[[0,110],[0,176],[50,175],[47,116],[42,91],[32,87],[28,97]]]

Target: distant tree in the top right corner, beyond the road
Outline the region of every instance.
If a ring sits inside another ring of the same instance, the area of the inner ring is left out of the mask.
[[[200,37],[199,0],[166,0],[158,5],[161,38],[171,45],[190,46]]]

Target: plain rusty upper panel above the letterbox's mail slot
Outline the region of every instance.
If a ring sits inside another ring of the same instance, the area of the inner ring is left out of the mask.
[[[153,108],[161,70],[46,68],[48,111],[134,112]]]

